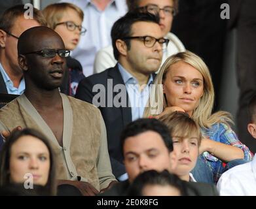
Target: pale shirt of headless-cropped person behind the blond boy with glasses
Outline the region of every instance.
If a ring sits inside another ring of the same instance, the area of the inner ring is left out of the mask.
[[[77,48],[71,52],[71,56],[82,65],[85,76],[93,74],[94,57],[96,52],[111,44],[111,28],[113,24],[127,12],[125,0],[111,0],[105,10],[101,11],[91,0],[61,0],[77,5],[84,12],[82,27],[86,33],[81,35]]]

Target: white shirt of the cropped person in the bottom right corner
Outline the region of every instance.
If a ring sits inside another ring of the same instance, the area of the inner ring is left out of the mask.
[[[221,196],[255,196],[256,157],[249,163],[224,172],[217,183],[217,189]]]

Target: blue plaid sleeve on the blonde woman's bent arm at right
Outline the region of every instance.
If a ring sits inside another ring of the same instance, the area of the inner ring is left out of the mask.
[[[236,146],[242,149],[244,152],[244,159],[246,161],[251,161],[251,159],[253,158],[253,153],[249,151],[249,148],[247,148],[246,145],[242,144],[242,142],[238,140],[236,133],[234,133],[234,131],[229,127],[229,125],[226,125],[225,123],[221,123],[219,131],[220,131],[220,135],[219,135],[220,142],[224,144]]]

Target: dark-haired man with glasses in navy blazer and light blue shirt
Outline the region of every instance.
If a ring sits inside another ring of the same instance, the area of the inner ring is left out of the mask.
[[[148,12],[128,12],[115,22],[111,37],[117,65],[81,80],[75,97],[100,108],[113,174],[124,180],[119,135],[127,123],[142,118],[168,39],[162,36],[158,17]]]

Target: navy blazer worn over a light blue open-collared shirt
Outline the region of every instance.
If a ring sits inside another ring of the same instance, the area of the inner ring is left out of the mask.
[[[96,84],[102,84],[105,87],[105,92],[103,93],[103,95],[105,95],[105,105],[107,106],[107,97],[109,96],[107,95],[107,92],[108,88],[110,87],[107,86],[107,79],[113,80],[113,88],[117,84],[124,85],[124,81],[122,80],[119,68],[116,65],[115,67],[111,67],[103,72],[93,74],[92,76],[88,76],[82,79],[81,82],[79,82],[75,97],[77,99],[81,99],[82,101],[92,103],[92,98],[98,93],[92,92],[92,88]],[[115,95],[119,93],[113,92],[113,89],[109,89],[109,91],[113,93],[113,97],[109,97],[109,99],[112,100],[113,98],[115,98]],[[124,127],[132,121],[132,109],[128,106],[128,103],[129,97],[126,91],[126,106],[98,107],[101,111],[103,120],[105,121],[111,167],[113,174],[116,177],[119,177],[126,172],[122,163],[123,157],[120,144],[120,133],[122,132]]]

